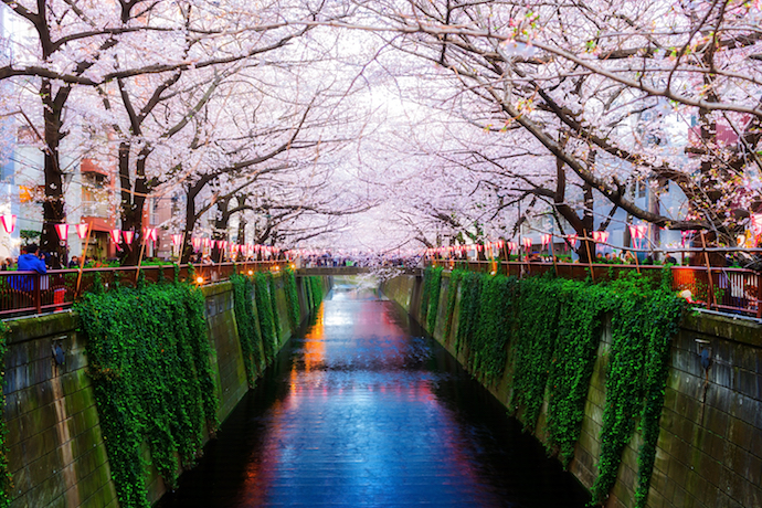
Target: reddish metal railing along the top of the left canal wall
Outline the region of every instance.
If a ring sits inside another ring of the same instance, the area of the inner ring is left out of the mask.
[[[189,265],[180,265],[179,279],[202,286],[223,282],[231,275],[255,272],[281,271],[285,261],[261,261],[248,263],[220,263],[193,265],[194,279],[190,281]],[[0,272],[0,318],[61,311],[70,308],[76,298],[93,289],[99,277],[106,289],[118,286],[135,286],[138,272],[147,283],[157,283],[162,276],[174,277],[174,265],[146,265],[141,267],[103,267],[78,269],[51,269],[41,275],[36,272]]]

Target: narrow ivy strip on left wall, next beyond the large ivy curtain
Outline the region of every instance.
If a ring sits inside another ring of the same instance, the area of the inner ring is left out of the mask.
[[[262,336],[260,335],[260,328],[254,314],[254,284],[251,277],[237,274],[232,275],[230,281],[233,284],[235,325],[239,330],[243,364],[246,369],[246,380],[250,387],[254,387],[254,380],[263,367]]]

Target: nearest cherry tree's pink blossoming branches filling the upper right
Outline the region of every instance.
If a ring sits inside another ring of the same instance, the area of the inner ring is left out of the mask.
[[[364,6],[382,22],[357,28],[447,70],[481,103],[466,116],[490,112],[493,127],[507,134],[520,126],[585,194],[655,225],[708,229],[724,241],[759,207],[759,6]],[[677,184],[687,213],[637,207],[632,187],[644,180]],[[559,190],[535,194],[564,213],[568,193]]]

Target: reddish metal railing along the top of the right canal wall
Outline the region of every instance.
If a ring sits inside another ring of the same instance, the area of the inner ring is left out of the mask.
[[[726,313],[737,313],[762,318],[762,274],[747,268],[726,268],[713,266],[678,265],[623,265],[623,264],[581,264],[549,262],[495,262],[434,260],[428,264],[467,268],[472,272],[500,273],[525,277],[552,272],[559,277],[583,281],[616,278],[623,272],[639,271],[645,276],[660,277],[663,269],[671,272],[671,287],[675,292],[689,296],[689,301]]]

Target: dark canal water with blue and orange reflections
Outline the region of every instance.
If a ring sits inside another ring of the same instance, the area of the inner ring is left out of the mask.
[[[159,506],[581,508],[588,500],[396,304],[337,284]]]

